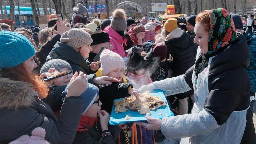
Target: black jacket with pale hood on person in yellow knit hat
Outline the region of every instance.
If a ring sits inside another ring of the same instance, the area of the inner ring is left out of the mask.
[[[173,72],[172,76],[185,74],[196,60],[190,35],[176,28],[167,35],[165,45],[167,46],[166,59],[169,54],[173,56],[172,63],[168,65],[168,69],[171,68]]]

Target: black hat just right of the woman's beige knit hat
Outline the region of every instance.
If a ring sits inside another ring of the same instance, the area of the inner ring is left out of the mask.
[[[109,34],[102,31],[94,32],[91,34],[91,38],[93,39],[93,43],[91,43],[91,45],[109,42]]]

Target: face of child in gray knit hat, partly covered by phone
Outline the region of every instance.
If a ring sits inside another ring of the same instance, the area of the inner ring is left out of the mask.
[[[64,71],[65,71],[65,72],[71,72],[71,70],[68,69],[68,68],[63,68],[63,69],[61,69],[59,72],[64,72]],[[53,84],[54,84],[55,86],[63,86],[63,85],[69,84],[69,81],[71,80],[72,76],[73,76],[72,73],[71,73],[71,74],[68,74],[68,75],[65,75],[65,76],[61,76],[61,77],[57,78],[57,79],[53,82]]]

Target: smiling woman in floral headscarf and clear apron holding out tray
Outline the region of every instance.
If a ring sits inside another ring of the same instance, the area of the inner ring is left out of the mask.
[[[199,14],[195,25],[194,42],[199,45],[195,65],[184,75],[139,89],[162,89],[168,96],[193,88],[195,104],[191,114],[162,120],[146,116],[148,123],[137,124],[149,130],[161,129],[167,138],[182,138],[181,144],[239,144],[249,107],[250,81],[245,70],[249,53],[244,36],[236,37],[234,30],[225,9]]]

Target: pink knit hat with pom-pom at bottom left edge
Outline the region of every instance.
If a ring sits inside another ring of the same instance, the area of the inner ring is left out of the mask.
[[[50,144],[45,138],[45,129],[38,127],[31,132],[31,136],[23,135],[9,144]]]

